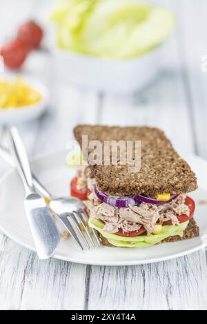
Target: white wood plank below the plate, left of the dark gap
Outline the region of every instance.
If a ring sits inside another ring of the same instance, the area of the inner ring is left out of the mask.
[[[1,310],[83,309],[84,265],[50,259],[0,236]]]

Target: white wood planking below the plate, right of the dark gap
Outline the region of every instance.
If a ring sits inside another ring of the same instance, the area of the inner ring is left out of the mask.
[[[88,309],[205,310],[204,269],[204,252],[152,265],[92,267]]]

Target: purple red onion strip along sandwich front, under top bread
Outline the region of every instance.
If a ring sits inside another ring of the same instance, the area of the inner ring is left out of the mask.
[[[164,203],[170,203],[170,201],[177,198],[178,196],[178,194],[174,194],[170,197],[168,201],[158,201],[156,199],[150,199],[148,197],[141,196],[141,194],[137,194],[135,196],[110,196],[109,194],[103,194],[103,192],[100,192],[97,188],[97,185],[95,185],[94,191],[101,201],[115,207],[129,207],[129,205],[135,206],[139,205],[140,203],[162,205]]]

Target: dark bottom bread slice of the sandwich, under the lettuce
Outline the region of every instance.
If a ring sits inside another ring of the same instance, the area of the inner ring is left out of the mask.
[[[169,237],[167,237],[167,239],[164,239],[163,241],[161,241],[161,243],[177,242],[177,241],[182,241],[182,240],[186,240],[186,239],[193,239],[193,237],[197,237],[197,236],[199,236],[199,227],[194,219],[190,219],[190,221],[188,223],[188,227],[186,227],[186,230],[184,230],[183,237],[180,237],[178,235],[177,236],[169,236]],[[100,233],[99,233],[99,237],[100,237],[101,243],[103,245],[115,247],[115,245],[110,244],[108,242],[108,239],[106,239],[106,237],[103,237]]]

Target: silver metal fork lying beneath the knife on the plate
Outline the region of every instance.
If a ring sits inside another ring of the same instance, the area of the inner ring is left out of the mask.
[[[12,156],[2,146],[0,146],[0,156],[14,167]],[[96,230],[88,226],[88,208],[82,201],[73,197],[57,198],[52,196],[34,174],[32,174],[32,181],[34,188],[48,200],[50,211],[60,219],[81,250],[101,245]]]

